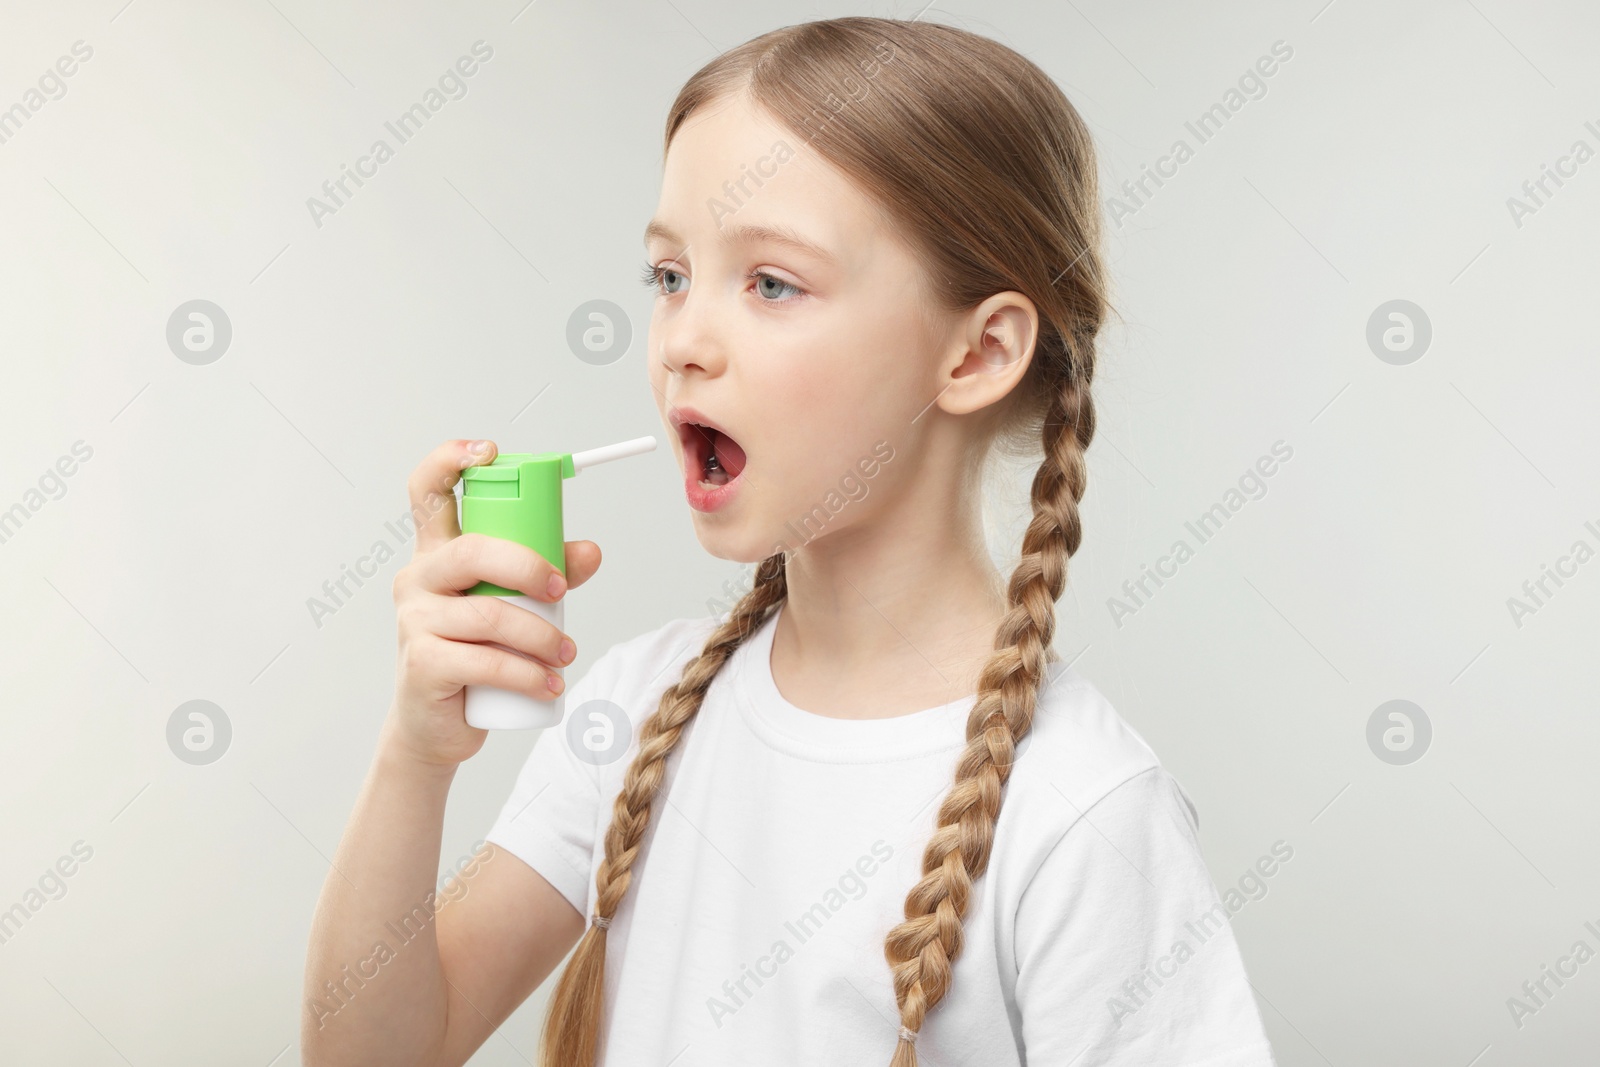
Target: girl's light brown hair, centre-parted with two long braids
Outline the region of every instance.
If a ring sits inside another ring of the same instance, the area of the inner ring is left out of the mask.
[[[970,310],[1014,290],[1040,314],[1032,363],[989,437],[1019,458],[1042,446],[1034,514],[922,878],[906,896],[906,921],[883,944],[902,1024],[890,1067],[915,1067],[915,1035],[950,990],[1002,790],[1056,657],[1056,600],[1083,537],[1083,453],[1094,435],[1090,379],[1107,315],[1094,150],[1077,110],[1029,59],[930,22],[842,18],[763,34],[683,85],[662,150],[690,114],[728,93],[746,93],[850,174],[915,246],[944,309]],[[784,553],[776,552],[640,728],[595,875],[594,921],[550,1000],[541,1067],[594,1067],[606,926],[632,883],[666,760],[717,672],[786,593]]]

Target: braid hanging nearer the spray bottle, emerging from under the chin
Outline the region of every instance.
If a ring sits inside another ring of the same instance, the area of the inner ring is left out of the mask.
[[[654,715],[640,726],[638,753],[629,765],[611,808],[605,861],[595,873],[594,921],[550,997],[539,1067],[595,1064],[605,1001],[606,928],[634,880],[634,861],[650,825],[656,792],[666,777],[667,757],[683,736],[683,728],[699,713],[717,672],[784,601],[787,592],[784,555],[779,552],[762,560],[755,585],[739,598],[728,619],[706,640],[699,656],[683,667],[683,677],[661,694]]]

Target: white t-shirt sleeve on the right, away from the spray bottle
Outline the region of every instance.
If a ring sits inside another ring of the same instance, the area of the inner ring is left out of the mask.
[[[1192,806],[1162,766],[1050,851],[1018,904],[1016,958],[1030,1064],[1274,1067]]]

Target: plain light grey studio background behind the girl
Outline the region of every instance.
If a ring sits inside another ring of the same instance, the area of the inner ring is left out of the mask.
[[[0,144],[0,510],[93,448],[0,544],[0,909],[93,848],[0,944],[0,1030],[18,1064],[283,1067],[312,905],[392,693],[410,545],[320,627],[307,598],[386,537],[443,438],[659,432],[634,278],[674,93],[766,29],[920,5],[123,3],[13,0],[0,32],[0,109],[93,48]],[[1280,1064],[1592,1061],[1600,961],[1520,1027],[1507,998],[1579,939],[1600,949],[1600,563],[1522,625],[1507,600],[1600,545],[1600,160],[1520,226],[1507,198],[1574,141],[1600,149],[1594,8],[941,0],[923,18],[1061,80],[1107,194],[1293,48],[1109,230],[1122,320],[1059,646],[1198,803],[1219,888],[1293,846],[1234,920]],[[307,197],[480,38],[494,54],[467,96],[318,227]],[[165,341],[190,299],[232,323],[205,366]],[[606,366],[565,344],[590,299],[635,326]],[[1432,323],[1403,366],[1366,342],[1392,299]],[[1266,496],[1118,624],[1109,598],[1194,544],[1186,520],[1278,440],[1293,458]],[[1002,563],[1027,474],[995,494]],[[570,678],[739,577],[694,541],[667,450],[566,501],[568,536],[606,553],[570,600]],[[208,766],[166,744],[192,699],[232,725]],[[1368,749],[1390,699],[1432,723],[1411,765]],[[496,734],[461,769],[442,867],[533,741]],[[531,1062],[549,989],[474,1062]]]

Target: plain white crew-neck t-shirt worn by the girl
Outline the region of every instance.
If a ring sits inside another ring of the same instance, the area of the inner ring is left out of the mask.
[[[603,1067],[886,1067],[894,1051],[883,939],[922,878],[973,697],[874,720],[802,710],[773,683],[778,614],[666,761],[606,936]],[[486,835],[586,921],[638,726],[720,621],[606,651]],[[920,1062],[1274,1067],[1194,805],[1088,680],[1051,672]],[[594,755],[608,731],[589,701],[632,723],[614,758]]]

